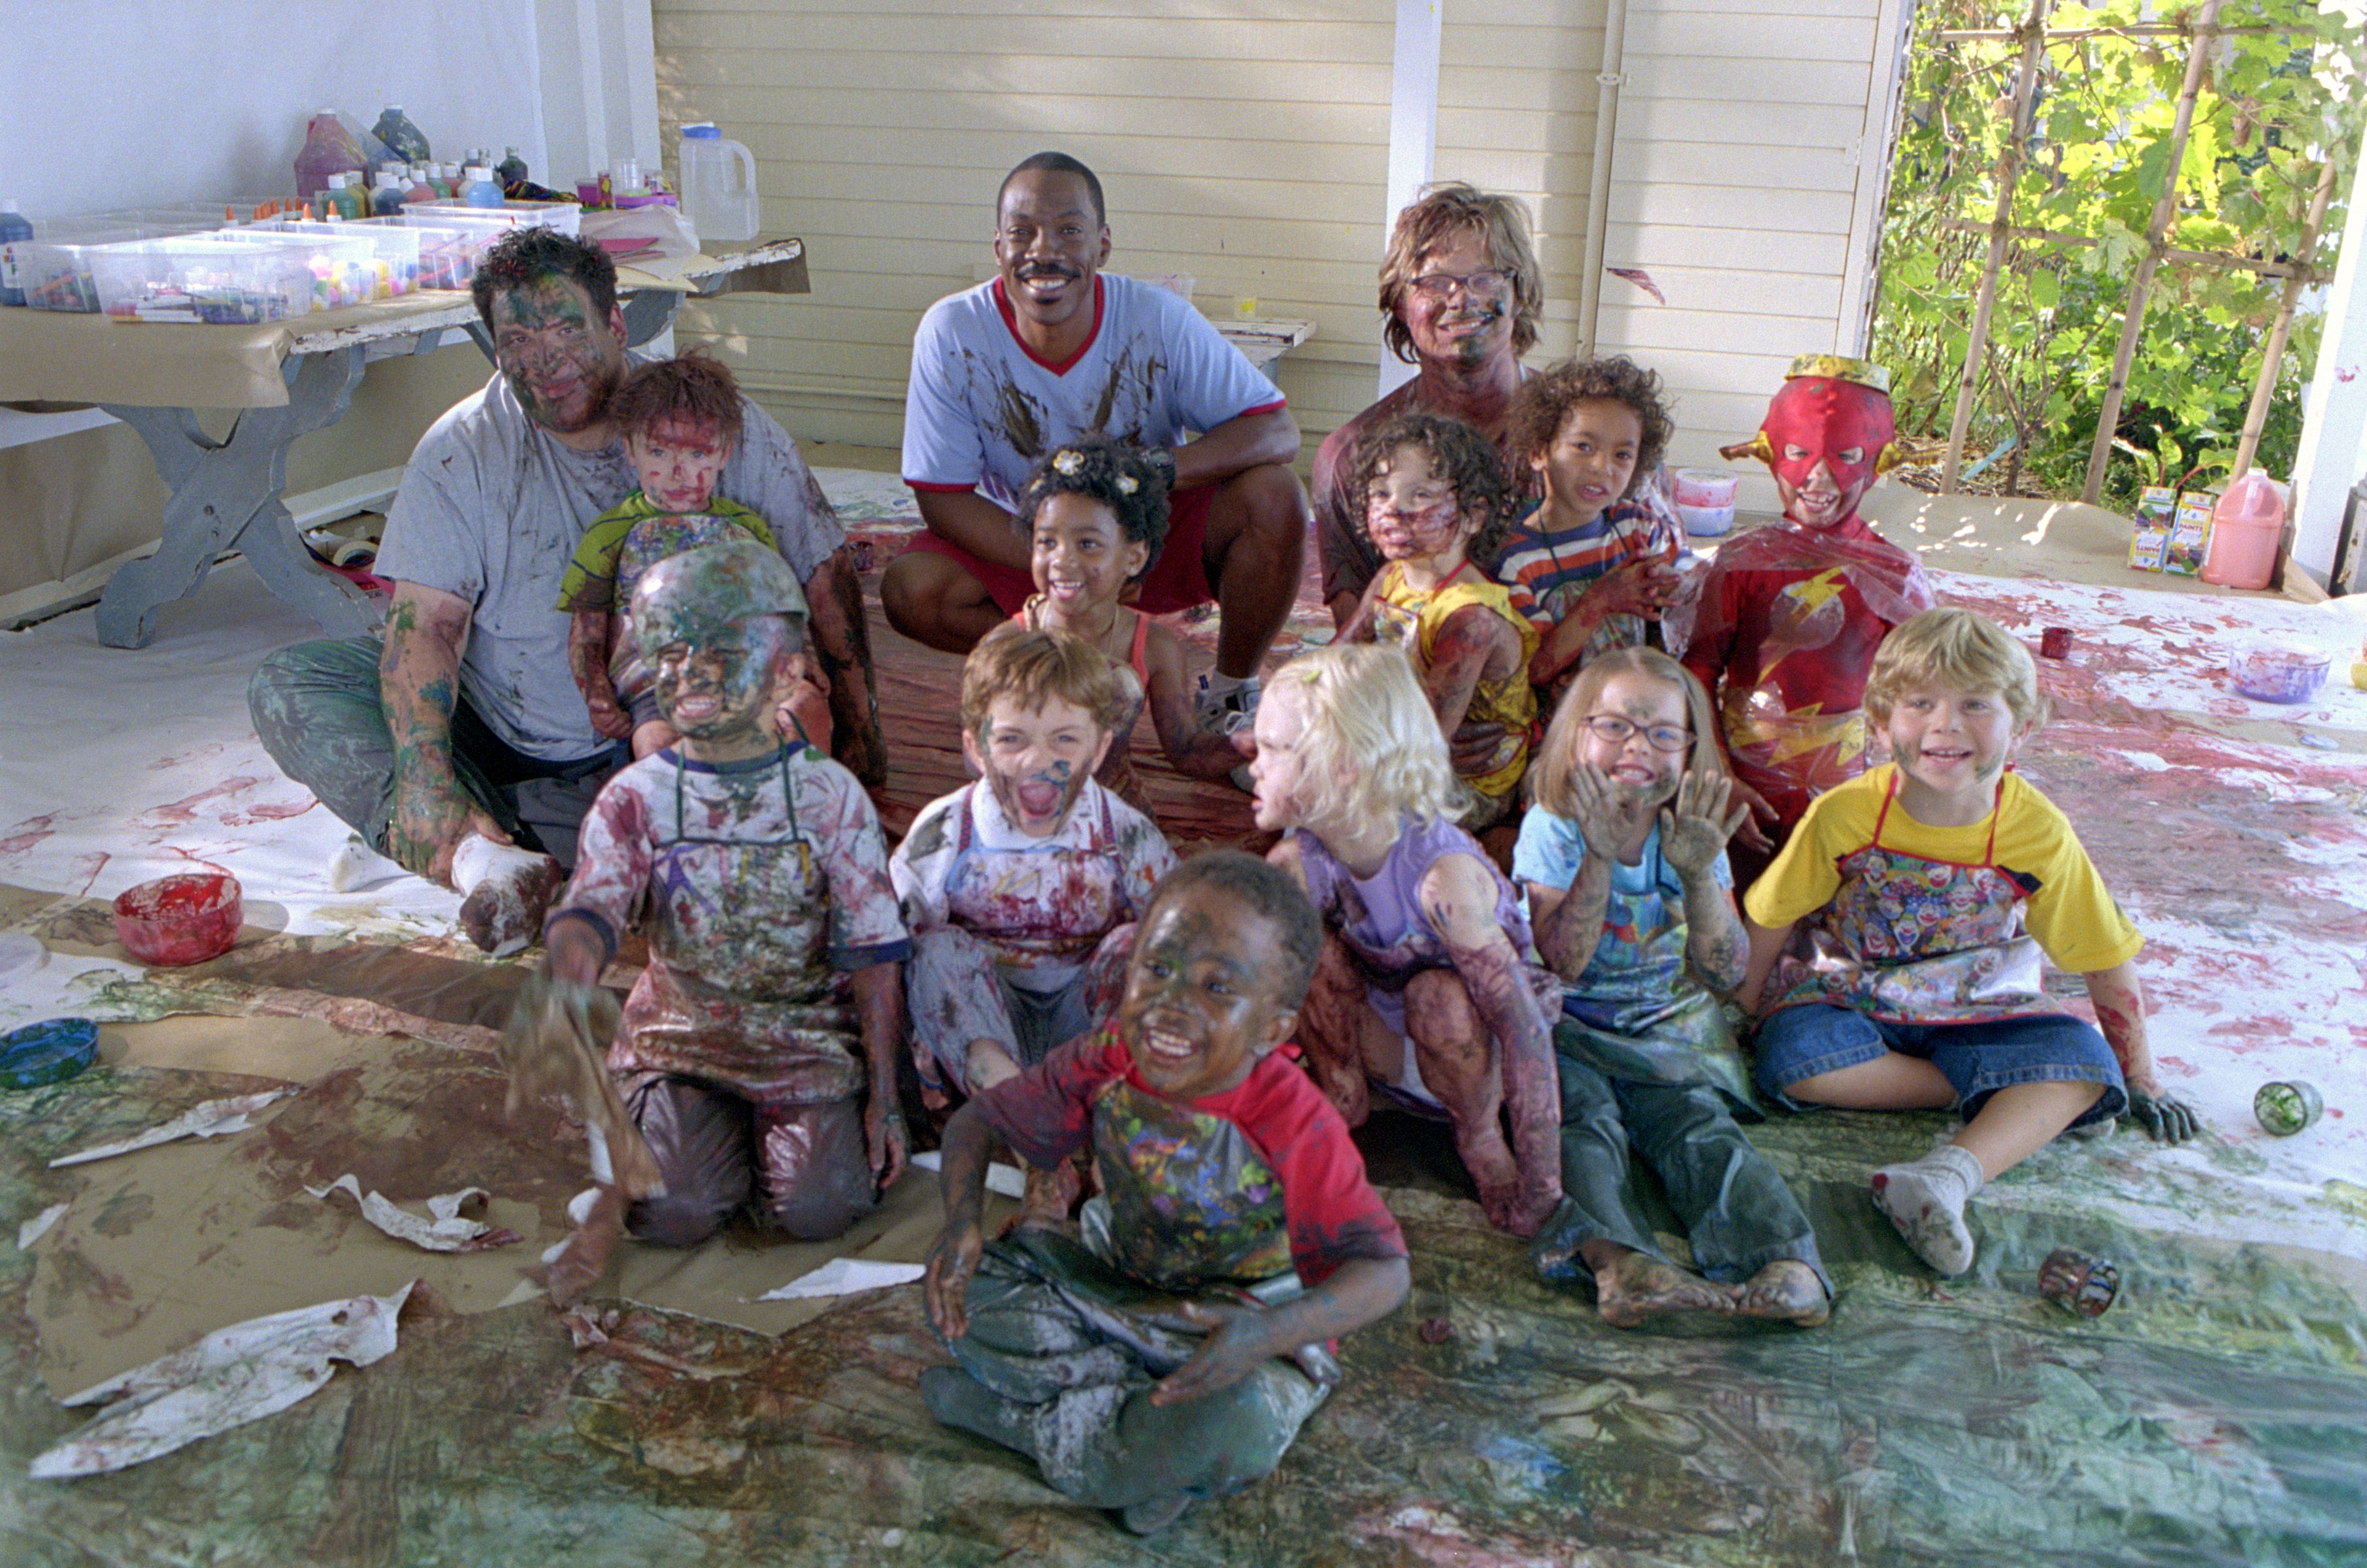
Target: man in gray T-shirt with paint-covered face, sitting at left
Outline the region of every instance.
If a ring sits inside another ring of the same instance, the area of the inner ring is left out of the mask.
[[[263,660],[256,733],[362,840],[466,894],[485,948],[542,929],[575,828],[625,759],[568,672],[559,579],[592,520],[637,485],[604,419],[627,369],[615,267],[592,244],[523,229],[476,274],[499,374],[419,440],[386,516],[383,636]],[[717,494],[772,525],[805,584],[831,679],[833,752],[885,776],[871,657],[845,532],[795,442],[743,400]]]

